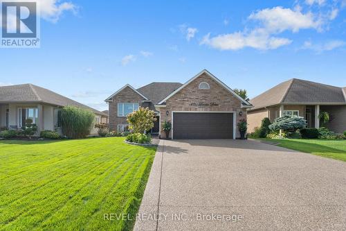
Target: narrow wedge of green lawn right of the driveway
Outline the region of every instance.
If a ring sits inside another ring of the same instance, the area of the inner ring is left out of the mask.
[[[346,139],[266,139],[277,146],[346,161]]]

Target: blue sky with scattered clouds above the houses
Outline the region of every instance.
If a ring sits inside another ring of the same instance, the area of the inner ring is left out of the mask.
[[[346,87],[346,0],[42,0],[41,48],[0,49],[0,85],[33,83],[98,110],[129,83],[208,69],[250,97],[290,78]]]

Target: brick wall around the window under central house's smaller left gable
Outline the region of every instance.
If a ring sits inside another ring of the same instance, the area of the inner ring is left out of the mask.
[[[118,117],[118,103],[138,103],[142,106],[143,97],[131,87],[125,87],[109,102],[109,130],[118,130],[118,124],[127,124],[126,117]]]

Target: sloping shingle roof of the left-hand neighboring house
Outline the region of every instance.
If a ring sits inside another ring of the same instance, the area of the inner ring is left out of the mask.
[[[30,83],[0,87],[0,103],[47,103],[57,106],[73,105],[91,110],[95,114],[107,116],[103,112]]]

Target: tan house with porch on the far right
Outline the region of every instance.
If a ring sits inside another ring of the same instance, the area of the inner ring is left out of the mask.
[[[320,128],[320,112],[329,113],[327,127],[330,130],[346,130],[346,87],[293,78],[268,89],[250,102],[254,107],[248,110],[248,132],[260,127],[264,117],[273,122],[284,115],[304,117],[309,128]]]

